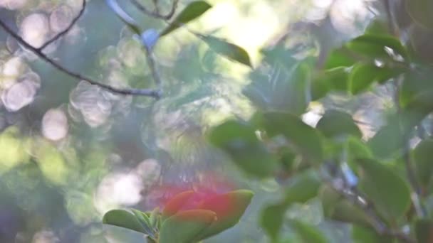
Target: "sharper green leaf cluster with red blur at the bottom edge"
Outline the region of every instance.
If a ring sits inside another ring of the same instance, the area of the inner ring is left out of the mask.
[[[189,209],[197,193],[186,191],[171,198],[162,212],[111,210],[105,213],[103,223],[132,229],[147,235],[148,242],[199,242],[229,229],[239,222],[254,193],[235,190],[208,196]]]

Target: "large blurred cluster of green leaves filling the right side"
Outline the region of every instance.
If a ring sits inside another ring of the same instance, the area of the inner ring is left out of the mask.
[[[410,8],[427,4],[409,2]],[[429,24],[423,16],[416,20]],[[256,114],[248,121],[225,121],[209,140],[250,176],[290,177],[283,184],[283,199],[261,213],[261,226],[272,242],[285,242],[285,226],[301,242],[328,242],[314,225],[285,216],[291,205],[313,198],[322,202],[326,219],[352,226],[354,242],[431,242],[432,209],[425,204],[432,195],[432,141],[425,139],[413,150],[408,146],[433,111],[431,63],[420,61],[409,43],[378,20],[332,50],[323,63],[313,57],[296,60],[283,45],[263,53],[265,68],[278,75],[252,73],[244,94]],[[355,97],[378,85],[396,87],[395,109],[367,141],[347,112],[328,109],[315,127],[301,119],[312,101],[333,94]],[[419,198],[413,200],[414,194]],[[409,230],[402,232],[402,227]]]

